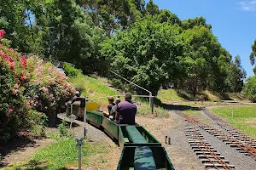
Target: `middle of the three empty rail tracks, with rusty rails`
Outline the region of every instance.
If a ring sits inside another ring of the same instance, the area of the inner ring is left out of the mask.
[[[238,141],[235,137],[232,137],[216,128],[210,127],[206,123],[199,122],[195,118],[187,116],[181,111],[176,112],[180,116],[185,117],[189,122],[195,122],[199,127],[206,130],[207,133],[210,133],[213,136],[217,137],[218,139],[221,139],[226,144],[230,144],[230,147],[236,147],[236,150],[239,150],[239,152],[245,153],[247,156],[252,156],[256,161],[256,149],[253,148],[251,145],[243,144],[240,141]]]

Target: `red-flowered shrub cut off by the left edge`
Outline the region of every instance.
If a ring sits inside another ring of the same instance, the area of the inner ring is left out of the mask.
[[[3,45],[0,37],[0,143],[7,141],[19,129],[30,127],[25,91],[31,81],[31,67],[14,49]]]

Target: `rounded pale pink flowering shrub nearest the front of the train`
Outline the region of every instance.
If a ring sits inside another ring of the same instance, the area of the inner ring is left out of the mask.
[[[36,56],[27,61],[37,64],[31,72],[32,81],[26,91],[29,105],[32,109],[44,112],[49,117],[49,123],[54,124],[61,105],[73,97],[75,89],[67,82],[65,73],[51,63],[44,63]]]

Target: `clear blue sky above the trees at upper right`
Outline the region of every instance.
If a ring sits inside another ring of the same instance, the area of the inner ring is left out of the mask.
[[[218,42],[233,57],[238,54],[247,77],[253,76],[249,54],[256,39],[256,0],[154,0],[154,3],[177,14],[181,20],[205,17]]]

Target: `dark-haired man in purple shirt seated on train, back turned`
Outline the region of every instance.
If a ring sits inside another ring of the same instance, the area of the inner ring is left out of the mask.
[[[120,102],[117,107],[116,120],[120,124],[135,124],[135,116],[137,114],[137,105],[131,102],[131,94],[125,94],[125,101]]]

